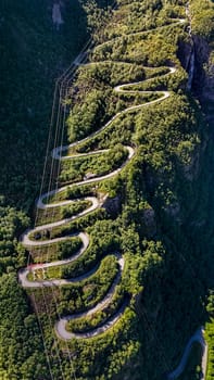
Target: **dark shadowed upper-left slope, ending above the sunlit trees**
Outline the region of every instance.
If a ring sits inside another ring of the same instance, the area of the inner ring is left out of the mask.
[[[86,40],[79,1],[61,2],[63,24],[53,24],[53,1],[1,1],[0,193],[32,205],[40,186],[54,79]]]

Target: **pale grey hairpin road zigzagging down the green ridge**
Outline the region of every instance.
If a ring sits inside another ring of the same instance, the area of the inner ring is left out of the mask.
[[[184,23],[184,20],[178,20],[175,23],[176,24],[177,23]],[[140,35],[140,34],[142,34],[142,33],[137,33],[137,35]],[[136,35],[136,34],[133,34],[133,35]],[[128,35],[128,36],[131,36],[131,35]],[[108,42],[104,42],[104,43],[108,43]],[[87,51],[86,51],[86,54],[87,54]],[[80,55],[80,58],[78,58],[78,60],[75,61],[75,65],[76,66],[78,66],[78,65],[84,66],[81,64],[81,62],[80,62],[81,56],[83,56],[83,60],[85,60],[85,54],[83,53]],[[96,62],[96,63],[87,63],[86,65],[92,65],[92,64],[99,64],[99,63],[98,62]],[[172,75],[175,72],[176,72],[175,67],[168,67],[168,73],[164,74],[164,75]],[[150,79],[148,79],[148,80],[150,80]],[[136,94],[137,93],[153,93],[153,92],[155,92],[159,96],[158,99],[152,100],[150,102],[146,102],[146,103],[139,104],[139,105],[133,105],[133,106],[127,107],[124,111],[118,112],[103,127],[101,127],[99,130],[95,131],[90,136],[84,138],[83,140],[76,141],[76,142],[74,142],[74,143],[72,143],[70,145],[54,148],[52,153],[51,153],[52,157],[54,160],[64,161],[64,160],[73,160],[73,159],[78,157],[78,156],[86,156],[86,155],[89,156],[89,155],[101,154],[101,153],[108,152],[108,149],[104,149],[104,150],[93,151],[93,152],[89,152],[89,153],[63,155],[63,153],[66,153],[68,149],[75,148],[75,147],[79,145],[80,143],[91,139],[92,137],[95,137],[97,135],[99,135],[102,130],[106,129],[121,115],[123,115],[123,114],[125,114],[127,112],[135,112],[136,110],[146,107],[148,105],[155,104],[155,103],[161,102],[161,101],[164,101],[165,99],[167,99],[171,96],[169,91],[142,91],[142,90],[126,89],[127,86],[129,86],[129,87],[130,86],[136,86],[136,85],[140,85],[140,84],[142,84],[144,81],[146,80],[116,86],[114,88],[114,91],[115,92],[136,93]],[[67,205],[67,204],[72,204],[72,203],[74,203],[76,201],[79,201],[79,199],[78,200],[65,200],[65,201],[60,201],[60,202],[56,202],[56,203],[49,203],[49,204],[46,204],[45,201],[49,200],[50,197],[56,195],[56,194],[59,194],[59,193],[61,193],[61,192],[63,192],[63,191],[65,191],[65,190],[67,190],[70,188],[72,188],[73,186],[77,187],[77,186],[81,186],[81,185],[86,185],[86,183],[95,183],[95,182],[106,180],[106,179],[110,179],[110,178],[116,176],[121,170],[123,170],[123,168],[131,161],[131,159],[135,155],[135,151],[136,151],[135,148],[129,147],[129,145],[124,147],[124,148],[128,151],[128,155],[127,155],[126,161],[123,163],[123,165],[121,167],[118,167],[117,169],[113,170],[110,174],[106,174],[106,175],[103,175],[103,176],[100,176],[100,177],[90,178],[90,179],[84,179],[81,181],[64,186],[64,187],[62,187],[60,189],[49,191],[49,192],[42,194],[37,200],[37,204],[36,204],[37,208],[47,210],[47,208],[61,207],[61,206],[64,206],[64,205]],[[45,245],[48,245],[48,244],[52,244],[52,243],[56,243],[56,242],[66,240],[68,237],[72,237],[72,236],[66,236],[66,237],[63,237],[63,238],[55,238],[55,239],[51,239],[51,240],[49,239],[49,240],[46,240],[46,241],[33,240],[30,238],[33,235],[35,235],[37,232],[40,232],[40,231],[47,230],[47,229],[51,230],[51,229],[53,229],[55,227],[59,227],[59,226],[62,226],[64,224],[67,224],[70,221],[72,221],[72,220],[75,220],[76,218],[79,218],[79,217],[81,217],[81,216],[84,216],[84,215],[86,215],[88,213],[91,213],[92,211],[97,210],[98,207],[101,207],[102,203],[103,203],[103,200],[100,201],[96,197],[86,197],[86,198],[83,197],[80,200],[87,200],[87,201],[90,202],[91,205],[88,208],[86,208],[85,211],[80,212],[79,214],[77,214],[75,216],[72,216],[71,218],[65,218],[63,220],[49,223],[49,224],[36,227],[36,228],[32,229],[32,230],[25,231],[23,233],[23,236],[21,237],[21,241],[22,241],[23,245],[28,248],[28,249],[30,249],[32,246],[45,246]],[[87,250],[87,248],[89,245],[89,237],[84,231],[81,231],[79,233],[76,233],[75,236],[78,236],[81,239],[81,241],[83,241],[83,245],[81,245],[80,250],[76,254],[74,254],[72,257],[66,258],[66,259],[56,261],[56,262],[52,262],[52,263],[36,264],[36,265],[30,265],[30,266],[28,266],[26,268],[22,268],[18,271],[18,280],[20,280],[20,283],[22,284],[22,287],[24,287],[24,288],[41,288],[41,287],[66,286],[66,284],[71,283],[71,282],[81,281],[81,280],[88,278],[89,276],[93,275],[96,273],[96,270],[98,269],[98,266],[96,266],[96,268],[93,268],[89,273],[84,274],[83,276],[80,276],[78,278],[73,278],[73,279],[68,279],[68,280],[65,280],[65,279],[29,280],[28,279],[28,275],[30,273],[33,273],[33,275],[34,275],[35,271],[38,270],[38,269],[46,269],[46,268],[50,268],[50,267],[66,265],[68,263],[72,263],[72,262],[76,261],[80,255],[83,255],[84,252]],[[66,324],[67,324],[68,320],[91,316],[96,312],[102,311],[103,307],[105,307],[106,305],[109,305],[111,303],[113,294],[115,292],[115,288],[121,281],[122,273],[123,273],[124,265],[125,265],[123,256],[121,256],[118,253],[114,253],[114,255],[117,258],[117,262],[118,262],[118,265],[119,265],[119,271],[118,271],[117,276],[115,277],[111,288],[109,289],[108,294],[104,296],[104,299],[102,301],[100,301],[91,309],[89,309],[87,312],[84,312],[84,313],[80,313],[80,314],[75,314],[75,315],[70,315],[70,316],[66,316],[66,317],[62,317],[55,324],[55,333],[56,333],[56,335],[60,339],[62,339],[62,340],[71,340],[73,338],[76,338],[76,339],[92,338],[92,337],[95,337],[97,334],[100,334],[100,333],[104,332],[105,330],[108,330],[123,315],[124,309],[125,309],[125,307],[127,305],[127,302],[124,302],[122,307],[119,309],[117,309],[115,312],[115,314],[113,316],[111,316],[108,320],[104,320],[101,326],[99,326],[99,327],[97,327],[97,328],[95,328],[95,329],[92,329],[92,330],[90,330],[88,332],[74,333],[74,332],[68,332],[66,330]]]

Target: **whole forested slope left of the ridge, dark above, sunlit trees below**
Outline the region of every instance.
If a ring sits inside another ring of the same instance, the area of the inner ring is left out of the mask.
[[[38,193],[55,78],[87,40],[79,1],[61,1],[53,24],[51,0],[0,1],[0,379],[45,379],[42,339],[16,268],[17,243],[29,226],[26,211]],[[16,207],[16,208],[15,208]]]

